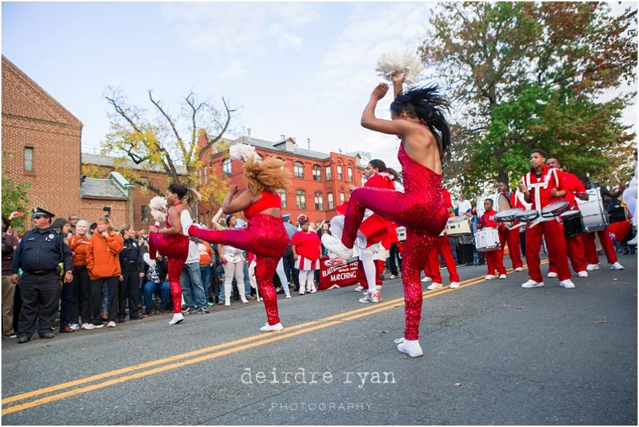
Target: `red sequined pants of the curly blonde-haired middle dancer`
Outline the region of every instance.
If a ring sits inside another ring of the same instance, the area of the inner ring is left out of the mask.
[[[288,234],[282,218],[258,214],[245,228],[202,229],[192,225],[189,235],[213,244],[226,244],[256,255],[255,277],[264,300],[269,325],[280,323],[278,297],[273,287],[273,274],[288,247]]]

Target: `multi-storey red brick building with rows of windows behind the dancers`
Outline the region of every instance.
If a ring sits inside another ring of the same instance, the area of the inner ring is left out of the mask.
[[[366,180],[363,175],[365,168],[359,165],[359,156],[301,148],[295,139],[285,136],[275,142],[242,136],[231,145],[238,142],[255,146],[260,156],[272,155],[285,161],[292,179],[290,188],[286,192],[280,191],[280,197],[284,212],[290,213],[293,220],[301,213],[312,222],[330,220],[337,215],[335,206],[348,198],[349,185],[361,187]],[[206,144],[206,141],[200,141],[200,144]],[[203,172],[204,175],[224,175],[230,183],[246,188],[241,162],[231,161],[228,152],[213,154]],[[218,208],[201,204],[200,222],[208,224]]]

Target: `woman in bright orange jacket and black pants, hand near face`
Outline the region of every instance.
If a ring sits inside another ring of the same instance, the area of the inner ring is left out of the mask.
[[[91,314],[94,328],[102,328],[102,284],[107,284],[107,328],[115,328],[118,317],[118,283],[121,267],[119,254],[124,239],[116,233],[109,218],[97,220],[97,229],[87,250],[87,269],[91,281]],[[92,328],[85,328],[92,329]]]

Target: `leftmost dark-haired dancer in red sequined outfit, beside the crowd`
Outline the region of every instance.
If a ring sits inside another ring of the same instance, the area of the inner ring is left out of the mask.
[[[182,200],[188,193],[187,188],[181,184],[171,184],[166,190],[165,198],[170,206],[166,215],[166,228],[158,229],[155,225],[148,227],[148,252],[151,259],[155,259],[155,253],[160,252],[168,259],[168,279],[171,286],[171,298],[173,298],[173,318],[169,325],[184,320],[182,315],[182,286],[180,275],[189,254],[189,239],[182,234],[182,212],[190,214],[191,208]]]

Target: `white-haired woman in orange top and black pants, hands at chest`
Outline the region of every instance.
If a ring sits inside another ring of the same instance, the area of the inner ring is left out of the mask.
[[[75,234],[69,238],[69,247],[73,255],[73,285],[75,290],[75,310],[71,314],[70,327],[77,329],[80,324],[78,315],[82,318],[82,329],[92,329],[91,323],[91,283],[87,270],[87,249],[91,244],[89,223],[79,220],[75,225]],[[60,316],[61,317],[61,316]]]

